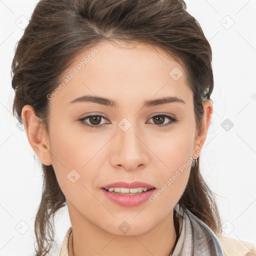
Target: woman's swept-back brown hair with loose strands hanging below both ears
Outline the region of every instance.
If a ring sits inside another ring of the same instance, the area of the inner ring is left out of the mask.
[[[160,47],[178,61],[193,92],[199,130],[201,102],[209,99],[213,89],[211,47],[182,0],[40,0],[12,61],[12,110],[19,122],[22,123],[22,107],[29,104],[48,132],[47,94],[59,84],[77,53],[104,40],[144,42]],[[42,170],[43,190],[34,223],[38,256],[50,250],[54,214],[65,206],[65,196],[52,165],[42,164]],[[199,158],[191,167],[179,205],[189,209],[216,234],[222,231],[213,192],[199,172]]]

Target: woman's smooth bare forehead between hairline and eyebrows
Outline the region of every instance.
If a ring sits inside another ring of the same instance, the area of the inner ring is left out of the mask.
[[[120,103],[166,95],[184,101],[192,98],[183,67],[160,48],[138,42],[104,41],[81,51],[63,74],[64,80],[55,98],[66,103],[88,94]]]

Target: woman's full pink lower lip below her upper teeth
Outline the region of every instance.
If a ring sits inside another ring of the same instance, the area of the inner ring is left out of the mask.
[[[126,207],[132,207],[145,202],[148,199],[148,197],[150,197],[154,193],[155,188],[138,194],[118,194],[108,192],[104,188],[102,188],[102,190],[105,196],[111,201],[115,202],[116,204]]]

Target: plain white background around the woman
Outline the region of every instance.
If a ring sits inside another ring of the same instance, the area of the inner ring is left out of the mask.
[[[200,157],[201,172],[217,194],[224,233],[256,244],[256,1],[185,2],[212,47],[214,112]],[[0,0],[0,256],[32,255],[34,246],[42,172],[25,131],[17,128],[11,114],[10,68],[23,33],[19,26],[26,24],[36,3]],[[222,123],[226,118],[234,124],[228,130]],[[56,255],[70,225],[65,207],[55,222]]]

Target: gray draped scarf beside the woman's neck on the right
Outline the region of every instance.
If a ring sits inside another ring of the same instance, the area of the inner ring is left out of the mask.
[[[174,210],[182,218],[182,228],[172,256],[225,256],[217,236],[203,221],[178,203]]]

